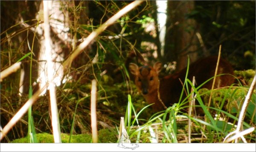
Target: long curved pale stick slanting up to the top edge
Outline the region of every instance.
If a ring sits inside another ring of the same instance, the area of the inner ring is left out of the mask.
[[[73,60],[76,58],[76,56],[83,51],[87,45],[90,44],[90,42],[97,37],[102,31],[104,31],[108,26],[112,25],[116,20],[118,20],[120,17],[122,17],[124,14],[126,14],[128,11],[131,11],[134,7],[138,6],[140,3],[142,3],[144,0],[136,0],[132,3],[130,3],[128,6],[125,6],[125,8],[121,9],[119,12],[117,12],[113,17],[108,19],[105,23],[103,23],[99,28],[97,28],[95,31],[93,31],[85,40],[82,42],[70,55],[70,57],[63,63],[64,70],[67,69]]]

